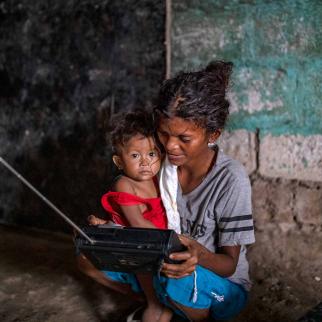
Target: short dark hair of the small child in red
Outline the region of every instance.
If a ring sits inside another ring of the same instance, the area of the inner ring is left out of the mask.
[[[143,108],[137,108],[113,115],[109,120],[106,138],[112,145],[113,153],[117,153],[118,146],[124,146],[136,134],[153,137],[154,133],[152,113]]]

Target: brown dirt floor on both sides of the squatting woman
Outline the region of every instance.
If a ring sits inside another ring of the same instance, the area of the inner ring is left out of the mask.
[[[322,302],[322,234],[257,232],[254,286],[233,322],[297,321]],[[137,306],[77,271],[71,237],[0,226],[0,321],[121,322]]]

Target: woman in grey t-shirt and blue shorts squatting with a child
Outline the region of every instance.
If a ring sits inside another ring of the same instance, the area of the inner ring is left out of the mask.
[[[161,87],[155,107],[158,137],[178,176],[181,242],[154,277],[159,300],[192,321],[225,320],[245,306],[250,288],[246,245],[254,242],[251,189],[244,168],[216,140],[224,129],[231,63],[180,73]],[[113,281],[83,258],[81,269],[121,292],[138,290],[131,274]],[[120,283],[121,282],[121,283]],[[131,285],[131,287],[130,287]]]

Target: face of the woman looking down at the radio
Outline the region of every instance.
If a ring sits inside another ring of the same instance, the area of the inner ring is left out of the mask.
[[[181,117],[162,117],[158,137],[169,161],[176,166],[200,160],[209,151],[209,135],[206,130]]]

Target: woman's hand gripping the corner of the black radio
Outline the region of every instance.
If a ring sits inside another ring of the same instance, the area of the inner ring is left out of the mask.
[[[187,247],[187,250],[179,253],[172,253],[170,259],[182,261],[182,263],[164,263],[161,270],[164,275],[170,278],[181,278],[193,273],[198,264],[200,252],[203,249],[201,244],[189,237],[179,235],[179,239],[181,243]]]

